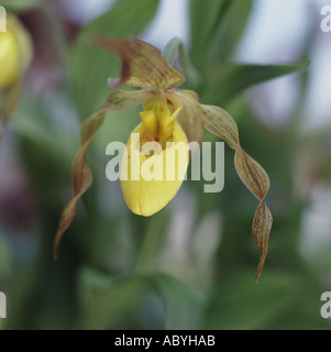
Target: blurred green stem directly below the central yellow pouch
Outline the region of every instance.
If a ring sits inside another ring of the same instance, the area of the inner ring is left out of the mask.
[[[155,257],[164,241],[167,219],[168,212],[166,209],[150,218],[150,223],[136,263],[137,273],[151,274],[154,271]]]

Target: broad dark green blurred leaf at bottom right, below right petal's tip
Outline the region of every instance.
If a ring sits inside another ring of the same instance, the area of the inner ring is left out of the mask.
[[[256,285],[241,271],[214,287],[202,329],[330,329],[320,317],[321,287],[306,275],[269,272]]]

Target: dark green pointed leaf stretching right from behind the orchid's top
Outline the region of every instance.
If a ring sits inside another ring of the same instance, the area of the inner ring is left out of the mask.
[[[224,107],[251,86],[307,69],[308,66],[308,62],[295,65],[224,65],[218,76],[206,87],[201,101]]]

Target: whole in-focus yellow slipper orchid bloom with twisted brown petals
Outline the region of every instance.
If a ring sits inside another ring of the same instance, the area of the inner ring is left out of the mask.
[[[102,38],[98,40],[98,44],[119,55],[123,63],[121,77],[110,79],[110,87],[115,89],[119,86],[129,86],[139,89],[112,91],[104,105],[82,123],[81,147],[73,165],[74,198],[62,213],[54,242],[54,255],[57,255],[60,238],[75,217],[78,199],[91,186],[92,177],[86,164],[86,152],[102,125],[104,114],[142,106],[143,111],[140,113],[142,122],[129,138],[128,152],[124,153],[121,167],[121,187],[126,205],[133,212],[142,216],[151,216],[163,209],[174,198],[183,183],[188,166],[187,144],[190,141],[199,142],[205,127],[235,150],[236,172],[260,201],[253,220],[253,237],[261,252],[257,280],[265,263],[273,222],[265,202],[269,179],[258,163],[242,150],[234,120],[219,107],[199,103],[196,92],[175,89],[184,82],[184,76],[147,43],[135,38]],[[134,139],[135,135],[139,135],[137,140]],[[153,142],[158,143],[159,150],[154,150],[154,154],[150,155],[144,147]],[[184,152],[177,150],[177,154],[168,153],[172,146],[168,147],[166,142],[180,144]],[[139,166],[137,175],[132,173],[132,162]],[[157,165],[164,167],[157,168]],[[169,172],[167,165],[175,165],[177,178],[169,180],[165,177]],[[161,172],[148,177],[150,166]],[[143,167],[147,177],[143,175]]]

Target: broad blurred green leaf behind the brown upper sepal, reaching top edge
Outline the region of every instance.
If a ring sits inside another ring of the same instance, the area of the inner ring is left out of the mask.
[[[81,119],[91,114],[106,99],[107,79],[120,74],[120,59],[92,45],[92,38],[136,36],[153,19],[158,1],[120,1],[90,23],[80,34],[69,59],[70,88]]]

